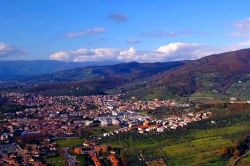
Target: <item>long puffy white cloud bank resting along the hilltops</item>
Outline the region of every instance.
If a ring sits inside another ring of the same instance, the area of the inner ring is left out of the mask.
[[[238,44],[216,47],[199,43],[175,42],[169,43],[154,51],[140,51],[134,47],[117,48],[81,48],[73,51],[59,51],[51,54],[50,59],[62,61],[119,61],[119,62],[165,62],[177,60],[199,59],[211,54],[234,51],[250,47],[250,41]]]

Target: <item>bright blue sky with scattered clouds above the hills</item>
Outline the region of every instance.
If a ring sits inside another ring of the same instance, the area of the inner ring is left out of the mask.
[[[0,0],[0,60],[164,62],[250,47],[249,0]]]

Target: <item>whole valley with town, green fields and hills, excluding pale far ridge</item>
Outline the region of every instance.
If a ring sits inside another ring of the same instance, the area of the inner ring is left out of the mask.
[[[92,66],[4,81],[1,143],[20,149],[9,151],[16,157],[2,159],[234,165],[249,151],[249,55],[247,49],[194,61]],[[227,60],[217,63],[220,58]]]

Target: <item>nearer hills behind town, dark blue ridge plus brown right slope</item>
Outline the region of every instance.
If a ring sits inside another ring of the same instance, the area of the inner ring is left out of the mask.
[[[78,66],[16,80],[15,90],[46,95],[123,93],[147,99],[230,96],[248,99],[250,49],[193,61]]]

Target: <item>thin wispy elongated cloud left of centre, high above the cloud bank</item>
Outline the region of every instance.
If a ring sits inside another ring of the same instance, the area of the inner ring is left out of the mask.
[[[66,36],[69,38],[73,38],[73,37],[80,37],[80,36],[87,36],[87,35],[95,35],[98,33],[103,33],[105,31],[106,29],[103,27],[95,27],[95,28],[85,29],[79,32],[69,32],[67,33]]]

